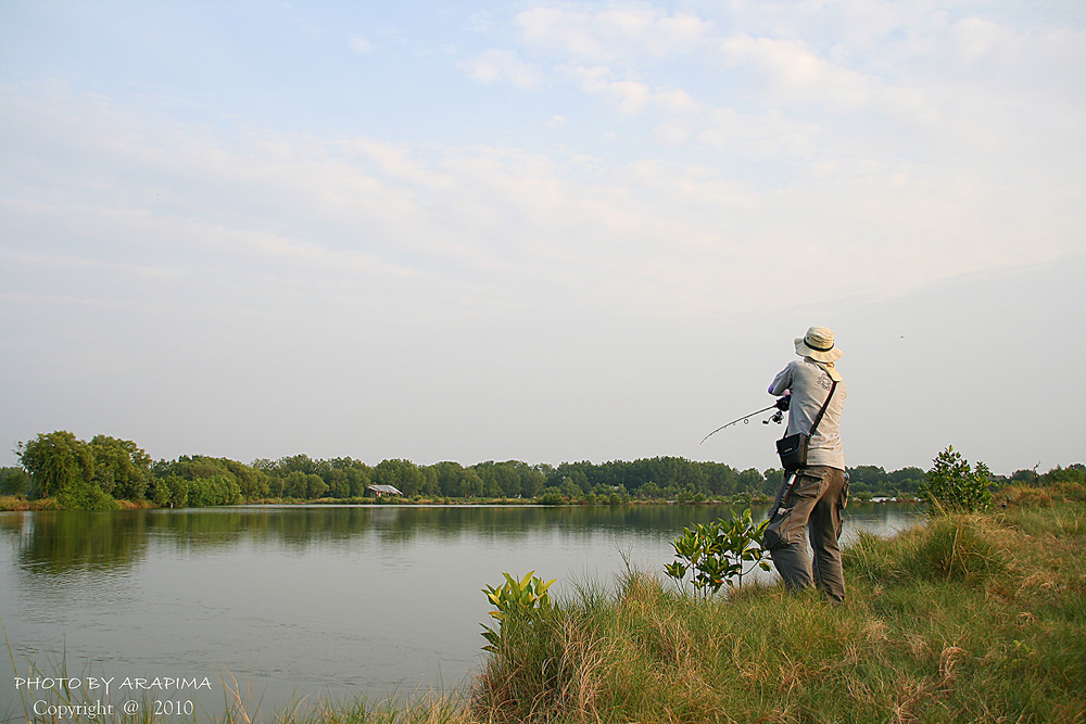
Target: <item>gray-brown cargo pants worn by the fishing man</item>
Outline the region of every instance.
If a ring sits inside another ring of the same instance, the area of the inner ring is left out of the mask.
[[[785,478],[787,484],[787,478]],[[766,526],[765,546],[787,588],[819,587],[834,601],[845,600],[841,569],[841,511],[848,498],[844,470],[825,466],[800,468],[785,499],[784,485],[776,493],[776,513]],[[807,555],[807,531],[815,550],[813,570]]]

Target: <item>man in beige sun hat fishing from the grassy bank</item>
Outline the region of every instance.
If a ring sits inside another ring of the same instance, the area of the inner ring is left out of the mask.
[[[841,602],[845,576],[837,539],[848,475],[839,422],[846,395],[834,363],[844,353],[825,327],[811,327],[795,344],[803,359],[788,363],[769,394],[790,397],[785,436],[804,433],[810,437],[806,460],[785,477],[778,491],[763,542],[786,587],[807,588],[817,582],[830,600]],[[807,554],[807,531],[815,550],[813,567]]]

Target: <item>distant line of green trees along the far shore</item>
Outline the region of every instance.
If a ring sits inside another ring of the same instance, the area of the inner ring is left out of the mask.
[[[390,459],[369,466],[352,458],[314,460],[306,455],[244,465],[201,455],[154,461],[136,443],[108,435],[90,442],[71,432],[39,434],[20,443],[21,468],[0,469],[0,494],[55,499],[63,508],[102,509],[124,499],[140,505],[206,507],[269,499],[320,500],[365,497],[370,485],[391,485],[408,498],[505,498],[541,503],[630,499],[705,500],[772,495],[783,471],[737,470],[722,462],[681,457],[627,462],[528,465],[519,460],[415,465]],[[1032,484],[1083,482],[1073,465],[1044,474],[1020,470],[1011,480]],[[924,479],[920,468],[886,472],[875,466],[848,469],[851,494],[911,497]]]

